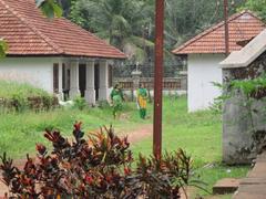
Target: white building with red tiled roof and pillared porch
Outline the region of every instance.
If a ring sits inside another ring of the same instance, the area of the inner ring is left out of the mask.
[[[0,38],[8,43],[0,80],[27,82],[59,96],[108,100],[111,66],[126,56],[66,19],[47,19],[34,0],[0,0]]]

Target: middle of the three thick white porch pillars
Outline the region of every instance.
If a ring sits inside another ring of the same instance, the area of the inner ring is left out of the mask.
[[[86,63],[85,100],[90,105],[94,105],[96,103],[96,95],[94,88],[94,61]]]

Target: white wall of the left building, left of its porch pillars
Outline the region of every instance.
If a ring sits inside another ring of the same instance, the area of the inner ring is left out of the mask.
[[[30,83],[53,93],[52,57],[4,57],[0,60],[0,80]]]

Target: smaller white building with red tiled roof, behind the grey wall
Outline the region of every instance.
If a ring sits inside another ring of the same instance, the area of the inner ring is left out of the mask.
[[[229,52],[242,49],[243,41],[250,41],[265,24],[252,12],[243,11],[228,19]],[[191,39],[173,51],[176,55],[187,55],[187,104],[188,112],[208,108],[221,95],[222,83],[219,62],[225,56],[224,22]]]

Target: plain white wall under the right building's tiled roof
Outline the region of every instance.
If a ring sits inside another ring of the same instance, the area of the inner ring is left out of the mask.
[[[187,57],[188,112],[208,108],[214,98],[221,95],[212,82],[222,83],[219,62],[223,54],[190,54]]]

